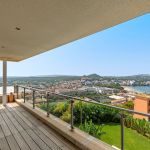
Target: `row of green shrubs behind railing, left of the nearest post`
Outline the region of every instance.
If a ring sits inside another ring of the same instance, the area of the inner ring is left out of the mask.
[[[47,105],[41,104],[40,108],[47,111]],[[49,104],[49,112],[53,115],[62,118],[64,121],[69,120],[70,104],[69,102],[58,102]],[[68,117],[67,117],[68,116]],[[93,123],[103,122],[116,122],[120,121],[118,117],[118,111],[99,106],[96,104],[89,104],[86,102],[75,101],[74,103],[74,122],[76,124],[82,123],[85,120],[92,120]],[[66,119],[66,117],[68,119]]]

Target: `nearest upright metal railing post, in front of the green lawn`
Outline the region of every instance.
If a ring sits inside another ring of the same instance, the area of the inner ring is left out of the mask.
[[[120,123],[121,123],[121,150],[124,150],[124,114],[123,112],[121,113]]]

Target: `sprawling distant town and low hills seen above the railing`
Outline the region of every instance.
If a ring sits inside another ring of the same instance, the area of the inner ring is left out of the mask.
[[[140,104],[144,103],[141,96],[139,98],[139,95],[137,96],[136,92],[128,90],[128,87],[133,86],[135,82],[137,81],[134,79],[114,79],[112,77],[104,78],[93,74],[81,77],[59,76],[38,78],[12,78],[8,80],[8,85],[9,87],[12,87],[14,85],[21,85],[49,91],[50,93],[63,93],[71,96],[84,97],[86,101],[108,103],[119,107],[126,107],[129,102],[131,106],[127,108],[148,113],[149,109],[146,109],[146,107],[147,105],[149,106],[149,101],[147,100],[144,104],[145,106],[141,108]],[[145,84],[150,83],[150,81],[142,82]],[[8,92],[13,93],[13,88],[10,88],[9,90],[9,87]],[[2,94],[2,91],[0,92],[0,94]],[[31,99],[30,92],[28,96],[28,99]],[[26,96],[26,98],[28,96]],[[1,100],[2,97],[0,96],[0,101]],[[41,99],[39,96],[39,98],[37,98],[37,101],[40,102],[43,101],[43,99]]]

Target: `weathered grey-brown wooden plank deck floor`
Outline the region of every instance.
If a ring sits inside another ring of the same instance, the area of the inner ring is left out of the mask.
[[[16,103],[0,105],[1,150],[77,150]]]

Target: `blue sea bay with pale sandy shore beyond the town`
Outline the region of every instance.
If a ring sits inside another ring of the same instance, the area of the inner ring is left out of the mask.
[[[128,86],[126,88],[133,92],[150,94],[150,86]]]

